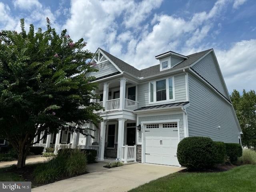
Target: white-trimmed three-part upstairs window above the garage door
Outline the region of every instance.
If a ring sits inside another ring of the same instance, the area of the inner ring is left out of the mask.
[[[149,82],[149,103],[174,100],[174,77]]]

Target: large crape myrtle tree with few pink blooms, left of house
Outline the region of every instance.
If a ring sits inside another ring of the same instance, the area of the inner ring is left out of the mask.
[[[18,168],[25,166],[29,146],[44,131],[57,133],[69,128],[87,136],[84,123],[98,125],[94,110],[102,107],[91,98],[95,71],[86,62],[93,54],[83,48],[81,38],[73,42],[66,30],[57,34],[47,18],[47,29],[28,33],[24,19],[21,32],[0,32],[0,138],[5,138],[18,153]],[[84,106],[84,107],[80,107]],[[70,124],[72,122],[72,124]]]

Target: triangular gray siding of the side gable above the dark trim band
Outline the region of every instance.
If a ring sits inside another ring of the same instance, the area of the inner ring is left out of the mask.
[[[192,69],[212,84],[212,86],[214,86],[221,94],[228,98],[228,93],[213,53],[205,56],[197,64],[192,66]]]

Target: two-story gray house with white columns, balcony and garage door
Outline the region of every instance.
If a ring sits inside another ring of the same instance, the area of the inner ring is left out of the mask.
[[[98,48],[91,60],[98,72],[88,75],[99,84],[94,93],[100,99],[91,102],[105,108],[96,112],[103,121],[99,129],[85,125],[95,130],[94,139],[60,132],[52,140],[56,150],[80,142],[79,148],[98,150],[98,160],[179,166],[176,150],[185,137],[241,143],[242,131],[213,49],[188,56],[169,51],[156,59],[160,64],[138,70]],[[46,143],[50,146],[51,139]]]

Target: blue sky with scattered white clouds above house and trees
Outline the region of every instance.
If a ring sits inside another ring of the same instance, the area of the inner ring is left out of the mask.
[[[147,68],[167,51],[214,49],[229,93],[256,90],[256,0],[0,0],[0,30],[20,31],[20,18],[68,30],[86,49],[98,47]]]

